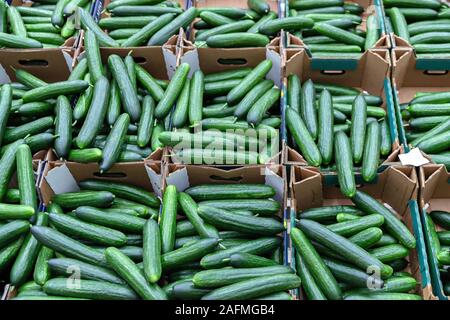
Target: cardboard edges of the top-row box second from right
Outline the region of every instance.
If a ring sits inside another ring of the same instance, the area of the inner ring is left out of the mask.
[[[383,9],[380,5],[380,2],[382,0],[352,0],[352,1],[346,1],[346,2],[353,2],[353,3],[357,3],[360,6],[362,6],[364,8],[364,12],[361,14],[361,18],[362,18],[362,23],[359,25],[359,28],[366,31],[366,22],[367,22],[367,18],[372,15],[375,14],[378,17],[378,21],[380,24],[380,38],[378,39],[378,41],[376,42],[375,46],[372,49],[369,49],[367,51],[372,51],[372,50],[379,50],[379,49],[390,49],[391,46],[391,39],[389,37],[389,35],[386,33],[386,27],[385,27],[385,23],[384,23],[384,13],[383,13]],[[289,1],[286,1],[286,15],[288,16],[289,13]],[[309,56],[311,55],[311,52],[308,50],[308,45],[305,44],[301,39],[293,36],[292,34],[287,35],[287,47],[302,47],[305,48],[307,50],[307,53]],[[362,52],[362,54],[366,53],[367,51]],[[333,56],[333,54],[331,53],[329,56],[327,57],[314,57],[312,56],[312,60],[313,60],[313,64],[317,65],[317,66],[328,66],[329,62],[327,60],[331,60],[333,61],[333,63],[339,63],[341,65],[347,65],[347,66],[353,66],[355,68],[355,65],[358,63],[357,60],[355,58],[352,57],[336,57]]]

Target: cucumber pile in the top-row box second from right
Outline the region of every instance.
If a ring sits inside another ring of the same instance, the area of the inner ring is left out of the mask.
[[[359,57],[381,35],[378,16],[372,14],[363,21],[363,12],[361,5],[344,0],[289,0],[287,19],[305,19],[310,24],[301,30],[284,29],[302,39],[314,57]]]

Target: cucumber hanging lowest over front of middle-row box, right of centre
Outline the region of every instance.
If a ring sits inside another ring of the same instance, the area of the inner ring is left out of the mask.
[[[356,193],[356,182],[353,174],[353,157],[347,135],[339,131],[334,137],[334,158],[341,192],[346,197]]]

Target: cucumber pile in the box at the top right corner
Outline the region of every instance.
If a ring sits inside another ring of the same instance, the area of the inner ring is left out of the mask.
[[[410,43],[418,57],[450,53],[450,7],[440,0],[383,0],[390,29]]]

